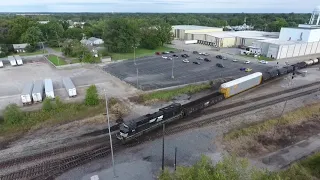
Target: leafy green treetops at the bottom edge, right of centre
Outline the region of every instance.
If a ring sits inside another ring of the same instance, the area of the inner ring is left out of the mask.
[[[216,165],[202,156],[192,167],[178,167],[177,171],[168,170],[160,175],[160,180],[281,180],[277,174],[267,173],[249,167],[248,161],[236,157],[224,157]]]

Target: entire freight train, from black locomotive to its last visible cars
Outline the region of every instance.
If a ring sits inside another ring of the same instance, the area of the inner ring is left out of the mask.
[[[319,60],[320,59],[318,58],[282,68],[274,68],[266,71],[265,73],[256,72],[239,79],[223,83],[218,91],[195,101],[191,101],[186,104],[173,103],[159,109],[159,111],[153,114],[146,114],[136,119],[124,121],[120,124],[120,132],[117,134],[117,138],[123,143],[127,143],[128,141],[143,136],[144,134],[161,127],[162,124],[168,124],[188,117],[195,112],[199,112],[208,106],[217,104],[226,98],[256,87],[266,81],[289,73],[294,75],[296,70],[318,64]]]

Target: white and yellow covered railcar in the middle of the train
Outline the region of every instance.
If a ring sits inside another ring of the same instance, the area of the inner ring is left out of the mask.
[[[262,73],[256,72],[239,79],[221,84],[220,92],[224,94],[225,98],[229,98],[233,95],[236,95],[261,84],[261,81]]]

